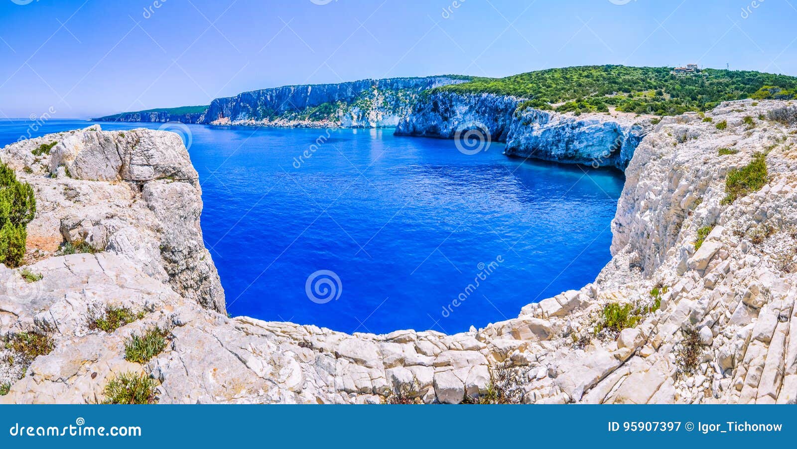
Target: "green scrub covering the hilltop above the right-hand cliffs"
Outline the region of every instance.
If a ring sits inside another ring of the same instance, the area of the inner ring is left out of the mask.
[[[667,67],[590,65],[550,68],[505,78],[474,78],[433,92],[493,93],[528,99],[519,109],[618,111],[679,115],[707,111],[727,100],[793,99],[797,78],[772,73],[705,68],[694,75],[673,75]]]

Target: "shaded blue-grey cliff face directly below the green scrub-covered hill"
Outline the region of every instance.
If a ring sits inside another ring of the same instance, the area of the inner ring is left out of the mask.
[[[454,139],[481,130],[505,142],[510,156],[624,170],[651,127],[650,119],[629,114],[559,114],[524,108],[509,96],[437,92],[418,101],[395,134]]]

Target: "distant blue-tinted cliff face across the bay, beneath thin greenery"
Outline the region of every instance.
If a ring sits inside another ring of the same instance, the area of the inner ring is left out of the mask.
[[[218,98],[202,123],[285,127],[392,127],[418,94],[446,84],[447,76],[306,84]]]

